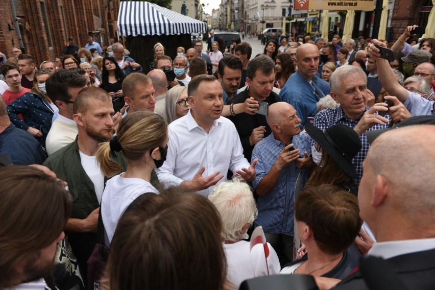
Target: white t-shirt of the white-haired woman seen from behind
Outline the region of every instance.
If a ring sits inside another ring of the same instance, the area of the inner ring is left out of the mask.
[[[267,276],[268,268],[269,275],[278,274],[281,270],[278,255],[269,243],[268,267],[262,244],[255,245],[252,251],[249,249],[249,241],[246,240],[223,245],[228,264],[227,279],[237,288],[246,279]]]

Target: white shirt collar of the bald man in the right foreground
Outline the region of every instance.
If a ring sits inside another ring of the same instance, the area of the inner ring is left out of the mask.
[[[373,247],[367,255],[389,259],[404,254],[422,252],[434,248],[435,238],[383,241],[373,244]]]

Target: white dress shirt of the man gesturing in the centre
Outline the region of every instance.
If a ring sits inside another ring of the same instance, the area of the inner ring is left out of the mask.
[[[179,186],[183,181],[194,178],[202,166],[203,177],[219,171],[227,181],[227,172],[233,173],[250,166],[243,155],[240,138],[234,124],[225,117],[214,120],[209,133],[198,125],[190,111],[169,125],[170,137],[167,158],[156,170],[164,188]],[[207,197],[214,186],[198,191]]]

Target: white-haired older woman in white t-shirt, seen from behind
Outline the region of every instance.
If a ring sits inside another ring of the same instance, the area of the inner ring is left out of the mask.
[[[246,279],[277,274],[280,271],[278,256],[268,243],[266,258],[262,245],[250,250],[247,231],[257,216],[257,207],[251,188],[243,180],[234,178],[216,186],[208,199],[221,214],[222,241],[227,257],[227,280],[238,289]]]

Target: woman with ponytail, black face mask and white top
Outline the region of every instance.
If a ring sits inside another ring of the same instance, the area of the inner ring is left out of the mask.
[[[127,161],[127,171],[107,181],[101,199],[100,213],[109,244],[126,208],[142,194],[159,193],[150,183],[151,173],[166,159],[168,141],[167,123],[152,112],[128,114],[119,122],[116,134],[110,142],[102,143],[97,152],[106,176],[120,171],[120,165],[111,158],[112,152],[122,152]]]

